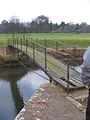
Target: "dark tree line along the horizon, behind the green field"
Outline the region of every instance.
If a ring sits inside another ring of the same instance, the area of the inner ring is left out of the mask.
[[[81,24],[61,22],[52,23],[49,18],[40,15],[31,22],[21,22],[19,17],[12,16],[10,20],[3,20],[0,24],[0,33],[48,33],[48,32],[65,32],[65,33],[90,33],[90,25],[82,22]]]

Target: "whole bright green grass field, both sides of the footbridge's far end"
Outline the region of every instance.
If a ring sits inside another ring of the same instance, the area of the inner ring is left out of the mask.
[[[21,36],[21,35],[19,35]],[[47,45],[55,46],[56,41],[61,42],[63,46],[78,46],[78,47],[87,47],[90,45],[90,34],[76,34],[76,33],[30,33],[27,34],[33,40],[38,41],[44,44],[44,40],[47,40]],[[0,34],[0,45],[7,45],[7,40],[10,37],[8,34]]]

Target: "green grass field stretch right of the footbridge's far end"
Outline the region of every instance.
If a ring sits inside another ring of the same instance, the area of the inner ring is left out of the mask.
[[[47,39],[48,45],[55,44],[56,41],[62,42],[64,46],[87,47],[90,45],[90,34],[76,33],[32,33],[33,39],[43,41]]]

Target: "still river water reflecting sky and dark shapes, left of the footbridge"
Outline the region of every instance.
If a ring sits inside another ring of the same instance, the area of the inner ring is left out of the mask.
[[[36,74],[37,73],[37,74]],[[0,120],[14,120],[33,93],[49,79],[39,68],[0,68]]]

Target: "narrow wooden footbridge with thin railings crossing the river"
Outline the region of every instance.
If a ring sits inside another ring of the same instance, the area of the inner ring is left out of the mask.
[[[69,91],[72,89],[84,88],[80,79],[80,74],[70,66],[69,54],[59,52],[55,49],[53,51],[56,55],[64,57],[66,63],[62,59],[57,59],[55,56],[49,54],[49,49],[37,42],[30,42],[27,39],[22,42],[22,39],[9,40],[9,47],[13,52],[17,51],[18,60],[22,53],[26,54],[33,60],[43,71],[49,76],[50,82],[59,83],[61,87]],[[22,61],[23,62],[23,61]]]

